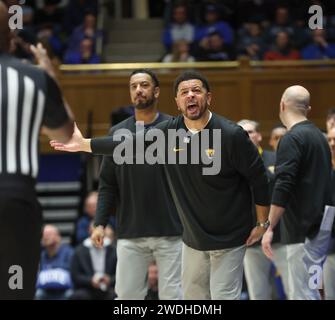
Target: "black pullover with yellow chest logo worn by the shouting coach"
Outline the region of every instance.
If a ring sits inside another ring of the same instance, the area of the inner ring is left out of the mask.
[[[187,128],[183,116],[160,123],[165,136],[169,129]],[[209,145],[200,147],[199,153],[220,152],[220,171],[216,175],[204,175],[209,165],[201,162],[192,164],[164,165],[177,210],[183,225],[183,241],[186,245],[202,251],[227,249],[243,245],[253,227],[252,193],[258,205],[269,205],[268,180],[263,161],[248,134],[235,123],[216,115],[206,128],[209,130]],[[213,141],[213,131],[220,131],[220,149]],[[200,135],[202,132],[200,132]],[[166,153],[189,152],[192,136],[179,143],[166,143]],[[91,141],[95,154],[113,154],[119,142],[111,137]],[[252,190],[252,191],[251,191]]]

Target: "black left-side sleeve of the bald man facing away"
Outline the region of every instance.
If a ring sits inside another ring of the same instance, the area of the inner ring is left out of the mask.
[[[296,185],[301,161],[301,145],[293,135],[285,135],[277,150],[272,204],[285,208]]]

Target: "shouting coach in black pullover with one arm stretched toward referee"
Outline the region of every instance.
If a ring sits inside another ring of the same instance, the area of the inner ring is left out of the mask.
[[[170,129],[184,129],[184,139],[166,153],[192,151],[191,145],[209,133],[205,157],[220,153],[216,175],[203,175],[207,164],[166,164],[166,176],[183,225],[182,288],[185,299],[239,299],[246,245],[265,232],[268,216],[268,181],[263,161],[248,134],[235,123],[209,111],[208,81],[197,72],[185,72],[175,82],[175,96],[182,115],[156,128],[168,136]],[[208,129],[208,130],[207,130]],[[215,131],[217,129],[218,131]],[[150,132],[150,130],[149,130]],[[219,139],[214,139],[219,132]],[[215,141],[219,140],[219,141]],[[75,130],[70,143],[51,142],[58,150],[113,154],[113,138],[83,139]],[[213,148],[213,146],[219,147]],[[220,150],[219,150],[220,149]],[[252,226],[252,192],[258,226]]]

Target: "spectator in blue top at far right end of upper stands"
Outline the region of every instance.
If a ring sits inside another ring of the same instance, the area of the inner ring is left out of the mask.
[[[335,58],[335,44],[328,43],[324,29],[313,30],[313,43],[302,50],[305,60],[323,60]]]

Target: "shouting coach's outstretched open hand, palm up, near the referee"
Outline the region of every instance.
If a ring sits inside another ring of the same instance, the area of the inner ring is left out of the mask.
[[[59,151],[67,152],[92,152],[91,150],[91,139],[85,139],[81,134],[80,130],[77,127],[77,124],[74,124],[73,135],[68,143],[61,143],[57,140],[50,141],[51,147]]]

